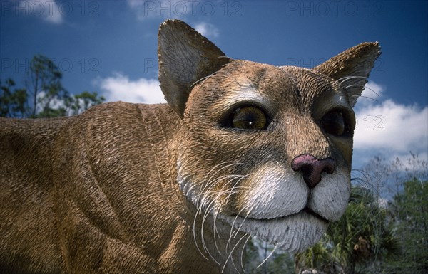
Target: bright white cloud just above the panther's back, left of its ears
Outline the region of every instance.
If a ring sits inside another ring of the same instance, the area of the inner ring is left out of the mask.
[[[140,78],[130,80],[128,76],[116,73],[112,77],[98,78],[94,84],[101,89],[107,102],[143,102],[156,104],[166,102],[158,80]]]

